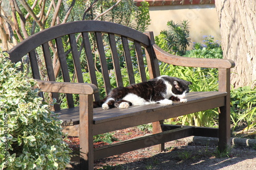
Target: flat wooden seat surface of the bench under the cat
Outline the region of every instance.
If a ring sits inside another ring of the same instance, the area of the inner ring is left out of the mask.
[[[95,108],[93,110],[94,112],[93,121],[94,121],[94,124],[101,124],[101,123],[109,122],[115,119],[136,116],[143,113],[158,112],[158,111],[166,110],[172,107],[178,107],[178,106],[184,105],[184,107],[187,108],[188,104],[195,104],[197,102],[201,102],[205,100],[223,98],[225,96],[226,96],[226,92],[219,92],[219,91],[190,92],[187,96],[187,100],[188,100],[187,103],[176,102],[173,105],[150,104],[150,105],[142,105],[142,106],[131,106],[128,109],[112,108],[109,110],[102,110],[102,108]],[[217,107],[221,107],[221,105]],[[184,110],[186,108],[184,108]],[[74,125],[79,124],[79,108],[78,107],[72,108],[72,109],[63,109],[61,111],[57,111],[56,113],[59,114],[60,119],[63,120],[64,122],[71,121],[73,122]]]

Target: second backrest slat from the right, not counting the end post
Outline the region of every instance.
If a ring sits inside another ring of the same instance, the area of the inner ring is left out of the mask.
[[[126,69],[129,76],[130,84],[135,84],[134,72],[133,72],[133,63],[131,59],[131,53],[129,49],[128,39],[126,37],[121,37],[124,51],[124,58],[126,63]]]

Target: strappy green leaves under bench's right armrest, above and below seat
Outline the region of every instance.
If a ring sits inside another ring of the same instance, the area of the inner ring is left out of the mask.
[[[159,67],[161,75],[178,77],[192,82],[190,91],[218,90],[218,69],[181,67],[166,63],[160,63]],[[189,126],[214,126],[217,116],[217,110],[206,110],[181,116],[180,120],[175,119],[175,121]],[[169,122],[173,124],[173,120],[169,119]]]

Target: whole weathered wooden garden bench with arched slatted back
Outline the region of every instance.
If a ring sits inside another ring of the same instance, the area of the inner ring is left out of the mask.
[[[117,49],[121,49],[121,54]],[[221,151],[230,145],[230,68],[234,67],[231,60],[171,55],[155,44],[153,32],[141,33],[104,21],[75,21],[54,26],[30,36],[9,51],[12,62],[22,61],[27,54],[29,70],[38,80],[41,91],[51,92],[51,97],[57,101],[59,96],[66,94],[68,108],[61,109],[61,105],[56,104],[54,109],[63,125],[79,124],[81,169],[93,169],[96,159],[152,145],[161,151],[164,142],[192,135],[219,137]],[[55,60],[56,56],[58,60]],[[99,63],[95,62],[95,57]],[[219,91],[190,92],[187,103],[174,105],[151,104],[110,110],[93,108],[93,101],[100,99],[102,88],[106,93],[110,92],[111,81],[116,82],[116,86],[123,86],[123,79],[135,83],[135,74],[140,75],[142,82],[160,76],[159,61],[179,66],[219,68]],[[61,72],[57,69],[58,63]],[[138,66],[138,73],[134,65]],[[103,79],[97,78],[99,73],[95,68],[101,71]],[[123,69],[126,69],[125,75]],[[90,80],[85,81],[84,74],[90,75]],[[98,88],[100,81],[104,85]],[[75,107],[73,100],[78,96],[73,94],[79,94],[79,107]],[[219,129],[162,125],[164,119],[212,108],[219,108]],[[147,123],[153,123],[152,135],[93,148],[93,135]]]

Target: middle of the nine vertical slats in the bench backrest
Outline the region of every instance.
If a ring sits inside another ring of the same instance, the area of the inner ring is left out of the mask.
[[[88,66],[88,69],[89,69],[91,83],[95,84],[98,87],[98,82],[97,82],[97,77],[96,77],[95,67],[94,67],[94,61],[93,61],[93,55],[92,55],[92,50],[91,50],[90,39],[89,39],[89,35],[88,35],[87,32],[82,33],[82,41],[83,41],[84,51],[86,51],[87,66]],[[99,92],[94,94],[94,100],[95,101],[100,100]]]

